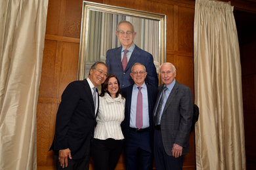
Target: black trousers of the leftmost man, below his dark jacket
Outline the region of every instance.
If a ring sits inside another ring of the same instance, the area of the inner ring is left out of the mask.
[[[89,170],[91,158],[91,144],[89,144],[85,155],[80,160],[70,160],[68,158],[68,167],[62,168],[60,166],[60,161],[58,160],[58,156],[54,155],[54,163],[57,170]]]

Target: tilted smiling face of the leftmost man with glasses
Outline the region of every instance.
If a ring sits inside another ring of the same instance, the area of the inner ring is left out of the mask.
[[[98,63],[96,69],[90,70],[90,75],[88,76],[93,83],[93,85],[99,86],[106,80],[106,75],[108,74],[108,69],[106,65]]]

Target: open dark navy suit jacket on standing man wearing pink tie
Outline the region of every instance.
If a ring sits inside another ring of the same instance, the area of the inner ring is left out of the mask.
[[[153,122],[153,110],[154,105],[156,103],[156,97],[158,96],[158,89],[150,86],[149,84],[146,85],[148,91],[148,116],[150,118],[150,144],[153,147],[154,142],[154,122]],[[133,85],[122,88],[121,92],[125,97],[125,119],[121,123],[123,136],[127,139],[129,135],[129,127],[130,127],[130,115],[131,115],[131,95],[133,93]]]

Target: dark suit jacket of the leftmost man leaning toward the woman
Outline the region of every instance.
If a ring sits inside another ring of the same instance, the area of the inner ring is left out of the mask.
[[[87,80],[68,84],[58,107],[55,136],[50,150],[53,149],[54,154],[58,155],[58,150],[70,148],[72,160],[81,159],[93,137],[96,116]]]

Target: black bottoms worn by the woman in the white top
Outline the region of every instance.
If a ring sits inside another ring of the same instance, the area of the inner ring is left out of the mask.
[[[93,139],[91,152],[95,170],[114,170],[122,150],[122,140]]]

